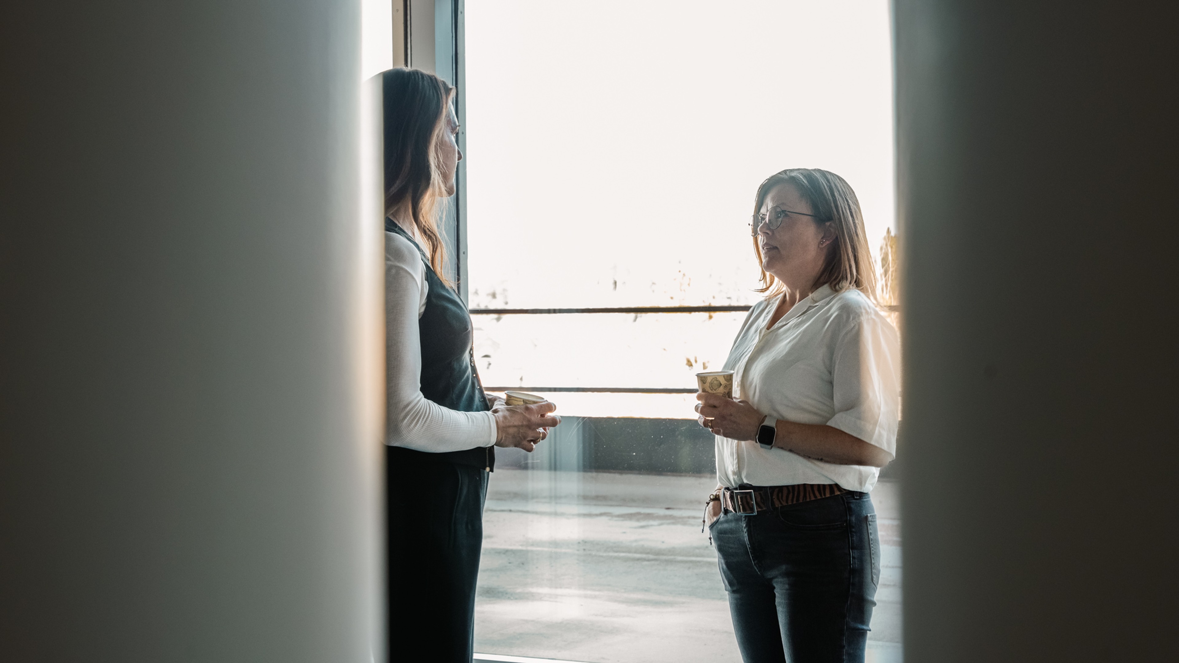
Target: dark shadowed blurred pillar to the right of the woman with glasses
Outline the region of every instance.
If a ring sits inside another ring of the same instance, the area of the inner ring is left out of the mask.
[[[905,661],[1166,659],[1173,6],[895,7]]]

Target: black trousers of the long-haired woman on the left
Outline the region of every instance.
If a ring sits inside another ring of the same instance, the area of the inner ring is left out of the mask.
[[[470,663],[482,468],[387,456],[389,661]]]

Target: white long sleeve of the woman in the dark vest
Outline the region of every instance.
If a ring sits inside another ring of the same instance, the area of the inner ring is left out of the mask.
[[[433,453],[492,446],[494,415],[450,410],[422,396],[417,320],[429,294],[426,268],[413,243],[384,233],[386,444]]]

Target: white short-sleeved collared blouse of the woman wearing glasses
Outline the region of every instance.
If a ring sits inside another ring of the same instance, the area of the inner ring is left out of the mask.
[[[753,306],[725,370],[733,397],[799,424],[826,424],[896,453],[901,349],[896,329],[858,290],[829,286],[798,301],[766,330],[778,299]],[[716,436],[722,485],[839,484],[870,491],[878,468],[837,465],[756,442]]]

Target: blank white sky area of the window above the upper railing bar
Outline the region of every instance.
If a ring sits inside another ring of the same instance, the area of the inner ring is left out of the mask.
[[[893,223],[885,0],[467,4],[472,306],[751,304],[786,167]]]

